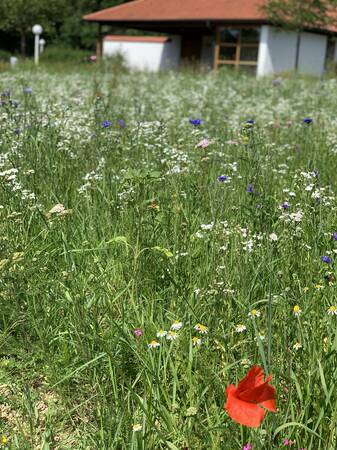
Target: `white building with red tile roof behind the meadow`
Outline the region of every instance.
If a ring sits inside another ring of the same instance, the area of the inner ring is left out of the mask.
[[[333,30],[279,30],[264,18],[265,0],[133,0],[84,17],[119,29],[162,36],[100,35],[98,56],[120,53],[131,68],[174,69],[183,61],[258,76],[298,70],[320,76],[337,59]]]

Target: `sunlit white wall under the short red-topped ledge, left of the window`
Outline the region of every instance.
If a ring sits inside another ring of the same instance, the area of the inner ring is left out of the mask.
[[[103,57],[120,53],[131,69],[158,71],[174,69],[180,60],[180,37],[168,42],[103,41]]]

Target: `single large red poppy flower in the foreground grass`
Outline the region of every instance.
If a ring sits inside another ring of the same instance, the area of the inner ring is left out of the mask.
[[[231,384],[227,390],[225,409],[229,417],[247,427],[259,427],[265,416],[265,409],[276,411],[276,390],[269,381],[264,380],[260,366],[253,366],[238,387]]]

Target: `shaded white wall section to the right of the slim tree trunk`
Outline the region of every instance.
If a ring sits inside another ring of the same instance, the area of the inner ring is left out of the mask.
[[[298,71],[322,75],[325,65],[327,37],[322,34],[301,33]]]

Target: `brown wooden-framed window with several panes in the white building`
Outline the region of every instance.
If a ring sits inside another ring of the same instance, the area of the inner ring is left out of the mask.
[[[251,66],[256,70],[259,52],[259,28],[218,28],[214,66],[235,68]]]

